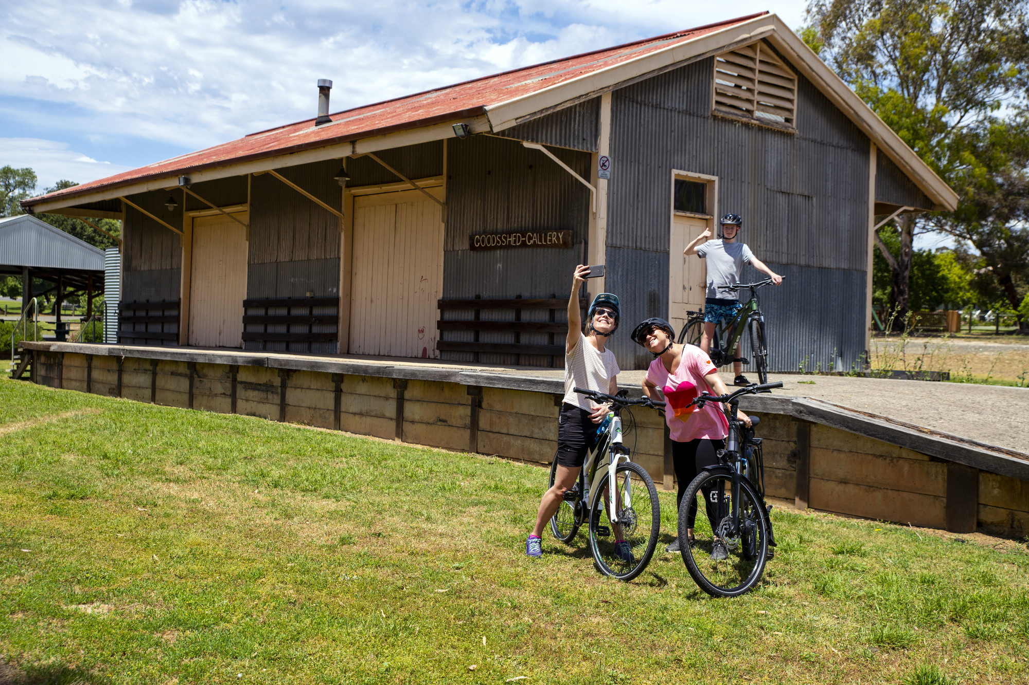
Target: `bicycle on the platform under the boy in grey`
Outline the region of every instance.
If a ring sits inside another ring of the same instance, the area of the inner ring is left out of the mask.
[[[743,289],[750,290],[748,299],[736,316],[729,322],[724,319],[715,324],[714,337],[711,338],[711,349],[708,356],[715,366],[725,366],[734,361],[741,364],[753,362],[757,369],[758,383],[766,384],[769,380],[769,353],[768,337],[765,332],[765,315],[761,314],[757,301],[757,289],[772,283],[772,279],[758,281],[757,283],[741,283],[735,286],[728,286],[725,290],[739,292]],[[680,344],[688,342],[700,347],[701,334],[704,332],[704,310],[698,312],[686,312],[686,325],[679,332]],[[750,341],[750,359],[736,359],[733,355],[740,345],[740,338],[744,331],[747,331],[747,338]]]

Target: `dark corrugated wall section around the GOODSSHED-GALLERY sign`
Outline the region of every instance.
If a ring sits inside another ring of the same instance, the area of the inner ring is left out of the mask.
[[[506,134],[505,134],[506,135]],[[587,152],[552,148],[584,178]],[[485,136],[451,141],[448,151],[447,229],[443,297],[565,297],[575,264],[586,257],[590,191],[538,150],[517,141]],[[571,230],[571,249],[468,249],[474,233],[513,230]],[[355,251],[356,256],[356,251]],[[666,257],[667,259],[667,257]],[[666,269],[667,271],[667,269]],[[448,319],[471,319],[471,312],[448,311]],[[545,310],[525,311],[524,321],[546,321]],[[564,320],[558,313],[558,321]],[[513,320],[513,312],[483,312],[484,321]],[[443,339],[470,341],[471,331],[447,331]],[[509,333],[480,333],[482,342],[512,342]],[[546,333],[522,333],[522,342],[547,344]],[[443,359],[472,361],[471,353],[445,352]],[[486,364],[513,364],[514,355],[480,354]],[[529,361],[529,360],[527,360]],[[539,360],[534,360],[539,361]]]

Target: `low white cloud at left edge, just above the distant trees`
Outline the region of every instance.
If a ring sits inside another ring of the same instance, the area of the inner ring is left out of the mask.
[[[38,138],[0,138],[0,159],[15,169],[30,167],[38,178],[36,191],[62,179],[85,183],[112,176],[130,168],[96,159],[68,149],[66,143]]]

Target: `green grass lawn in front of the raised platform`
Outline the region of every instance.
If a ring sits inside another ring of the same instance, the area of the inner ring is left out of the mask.
[[[0,381],[0,682],[1029,680],[1024,544],[776,508],[764,584],[713,600],[677,555],[527,560],[545,478]]]

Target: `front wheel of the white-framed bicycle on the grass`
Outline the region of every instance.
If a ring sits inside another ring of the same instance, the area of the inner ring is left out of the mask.
[[[611,522],[609,482],[605,472],[590,511],[590,550],[601,572],[618,580],[632,580],[650,563],[658,546],[661,503],[653,480],[639,464],[618,464],[614,482],[618,522]],[[631,506],[627,506],[630,496]],[[619,544],[622,541],[628,544],[628,553],[626,546]]]

